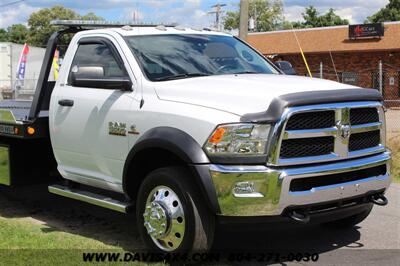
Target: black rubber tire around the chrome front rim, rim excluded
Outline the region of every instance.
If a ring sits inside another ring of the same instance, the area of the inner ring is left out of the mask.
[[[185,231],[179,247],[166,251],[157,246],[144,226],[144,212],[149,194],[159,186],[166,186],[179,197],[184,210]],[[190,171],[184,167],[166,167],[154,170],[147,175],[137,195],[136,220],[139,233],[149,251],[173,252],[205,252],[211,248],[215,215],[213,215],[202,199],[199,188],[196,188]]]

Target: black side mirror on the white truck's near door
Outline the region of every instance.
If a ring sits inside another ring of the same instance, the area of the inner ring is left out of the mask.
[[[71,71],[71,85],[97,89],[132,90],[132,81],[129,77],[105,77],[104,68],[101,66],[75,66]]]

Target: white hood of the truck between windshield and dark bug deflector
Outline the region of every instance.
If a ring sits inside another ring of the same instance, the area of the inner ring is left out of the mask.
[[[161,100],[195,104],[236,115],[265,111],[278,96],[321,90],[354,89],[338,82],[299,76],[243,74],[159,82]]]

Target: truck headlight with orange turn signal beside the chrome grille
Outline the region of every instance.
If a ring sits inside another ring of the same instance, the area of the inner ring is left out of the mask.
[[[220,125],[204,144],[209,155],[263,155],[270,125]]]

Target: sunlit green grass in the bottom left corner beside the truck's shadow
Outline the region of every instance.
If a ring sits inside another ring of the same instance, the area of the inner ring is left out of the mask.
[[[123,252],[90,238],[51,231],[29,218],[0,217],[0,239],[0,265],[80,265],[83,252]]]

